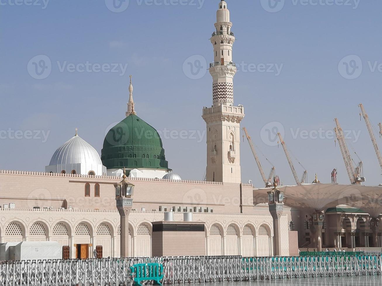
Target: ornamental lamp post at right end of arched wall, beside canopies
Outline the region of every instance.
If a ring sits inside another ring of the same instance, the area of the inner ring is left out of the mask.
[[[284,191],[277,189],[277,182],[274,181],[274,188],[267,192],[269,212],[273,217],[274,229],[274,255],[281,255],[281,216],[284,211]]]

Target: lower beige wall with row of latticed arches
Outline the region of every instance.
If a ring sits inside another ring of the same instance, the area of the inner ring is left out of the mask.
[[[151,256],[152,222],[163,220],[163,216],[163,212],[131,213],[129,233],[131,235],[131,253],[134,256]],[[287,220],[286,214],[284,217]],[[176,212],[174,219],[183,220],[183,213]],[[258,237],[264,240],[264,236],[259,235],[259,230],[262,227],[267,229],[269,236],[266,237],[269,239],[269,243],[273,238],[272,216],[266,213],[194,213],[193,220],[205,222],[206,252],[211,255],[214,253],[209,249],[209,246],[215,243],[217,237],[220,237],[222,254],[228,254],[227,247],[231,246],[228,245],[228,241],[237,241],[236,255],[245,254],[248,256],[263,253],[256,245],[252,250],[246,249],[248,241],[255,244]],[[77,243],[91,243],[89,253],[92,253],[95,246],[102,245],[104,256],[118,256],[119,225],[120,218],[116,210],[0,210],[1,242],[58,241],[71,246],[73,258],[75,257],[74,244]],[[214,228],[213,225],[217,227],[218,235],[211,233],[212,228]],[[232,239],[235,236],[229,232],[230,225],[236,230],[236,239]],[[248,235],[249,230],[250,235]],[[288,233],[283,233],[283,235],[288,235]]]

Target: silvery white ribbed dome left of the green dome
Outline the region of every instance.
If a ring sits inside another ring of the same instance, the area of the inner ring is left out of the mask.
[[[49,165],[101,164],[98,152],[78,135],[75,135],[56,150]]]

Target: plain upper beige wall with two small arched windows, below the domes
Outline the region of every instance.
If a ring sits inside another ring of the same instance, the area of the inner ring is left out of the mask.
[[[24,172],[25,173],[25,172]],[[4,174],[0,171],[0,206],[15,203],[17,208],[74,207],[79,209],[115,209],[113,184],[116,177],[77,177],[70,174],[46,173]],[[251,212],[252,186],[238,183],[209,183],[202,181],[171,182],[131,178],[135,184],[134,208],[158,210],[207,207],[214,212]],[[85,185],[90,185],[90,197],[85,196]],[[100,197],[94,196],[95,184],[100,185]]]

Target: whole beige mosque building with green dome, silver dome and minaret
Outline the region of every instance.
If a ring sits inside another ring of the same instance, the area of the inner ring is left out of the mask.
[[[192,212],[193,220],[204,224],[206,255],[274,254],[274,219],[268,205],[255,206],[252,184],[241,181],[240,123],[245,114],[242,105],[234,104],[235,36],[227,2],[219,2],[216,18],[209,69],[212,106],[202,109],[206,180],[182,180],[172,171],[159,133],[139,117],[130,76],[126,116],[106,134],[101,156],[76,130],[55,151],[45,172],[0,170],[1,243],[57,241],[65,250],[63,258],[87,258],[94,251],[118,257],[121,228],[113,185],[126,169],[135,185],[128,230],[131,256],[152,255],[153,223],[168,211],[176,221]],[[279,254],[296,254],[295,228],[301,230],[302,245],[309,219],[285,206],[280,222]],[[341,225],[341,220],[332,223],[333,228]]]

